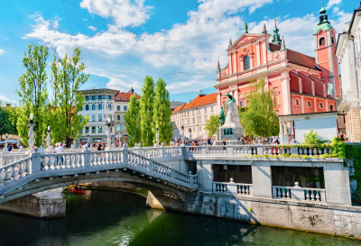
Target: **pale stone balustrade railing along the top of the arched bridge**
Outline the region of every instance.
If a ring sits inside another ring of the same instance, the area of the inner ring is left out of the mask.
[[[177,150],[178,151],[178,150]],[[182,173],[171,169],[161,163],[135,154],[128,149],[105,150],[73,153],[45,153],[40,154],[37,148],[30,157],[17,160],[0,168],[0,186],[5,186],[14,180],[18,180],[32,174],[40,174],[39,178],[50,178],[58,174],[78,174],[91,172],[92,170],[111,169],[113,167],[128,167],[139,171],[142,176],[158,178],[170,182],[176,186],[190,189],[198,188],[197,175]],[[0,188],[1,190],[1,188]]]

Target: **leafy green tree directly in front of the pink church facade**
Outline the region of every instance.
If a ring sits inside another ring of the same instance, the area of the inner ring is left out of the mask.
[[[250,137],[276,136],[280,132],[280,123],[271,92],[264,89],[264,78],[252,83],[253,90],[246,96],[247,109],[239,115],[245,135]]]

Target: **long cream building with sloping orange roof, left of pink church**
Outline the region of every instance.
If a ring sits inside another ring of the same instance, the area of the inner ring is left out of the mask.
[[[178,106],[171,114],[173,123],[173,140],[181,138],[181,128],[184,128],[186,139],[205,139],[208,132],[204,128],[211,115],[218,115],[217,95],[199,94],[189,104]]]

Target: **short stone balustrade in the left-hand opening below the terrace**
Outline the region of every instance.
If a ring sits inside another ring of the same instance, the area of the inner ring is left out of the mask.
[[[227,194],[233,196],[253,196],[252,184],[213,182],[212,191],[215,194]]]

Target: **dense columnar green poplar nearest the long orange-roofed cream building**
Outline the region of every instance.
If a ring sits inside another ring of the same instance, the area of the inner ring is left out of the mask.
[[[155,83],[155,98],[153,104],[153,134],[156,140],[156,125],[159,130],[159,141],[165,145],[171,143],[173,135],[173,123],[171,123],[171,99],[169,91],[165,88],[166,84],[162,78],[158,78]]]

